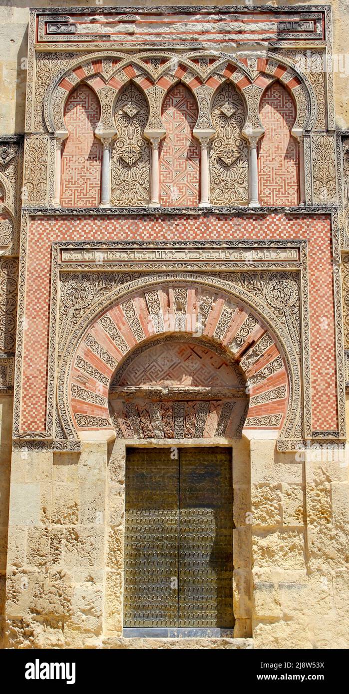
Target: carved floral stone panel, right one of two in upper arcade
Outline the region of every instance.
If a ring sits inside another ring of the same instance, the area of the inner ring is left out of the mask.
[[[248,145],[241,137],[246,110],[241,96],[224,84],[212,103],[216,137],[210,153],[211,202],[246,205],[248,202]]]

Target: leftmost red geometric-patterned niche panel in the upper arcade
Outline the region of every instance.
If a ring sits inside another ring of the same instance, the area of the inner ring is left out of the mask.
[[[100,203],[103,148],[94,135],[100,117],[96,94],[87,85],[79,85],[65,105],[65,125],[69,136],[62,153],[62,207],[96,207]]]

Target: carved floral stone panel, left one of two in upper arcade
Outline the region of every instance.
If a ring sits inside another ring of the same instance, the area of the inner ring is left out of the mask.
[[[149,198],[150,153],[143,137],[148,106],[131,83],[114,108],[117,140],[112,150],[112,205],[146,205]]]

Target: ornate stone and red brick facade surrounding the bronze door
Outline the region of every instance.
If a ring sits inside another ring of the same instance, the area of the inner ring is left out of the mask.
[[[339,10],[90,5],[3,10],[1,646],[348,648]],[[233,638],[123,636],[129,446],[232,450]]]

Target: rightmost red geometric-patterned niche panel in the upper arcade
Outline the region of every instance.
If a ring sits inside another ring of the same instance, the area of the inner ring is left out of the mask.
[[[264,92],[259,114],[264,127],[258,147],[259,201],[261,205],[298,205],[299,146],[291,135],[296,105],[279,82]]]

